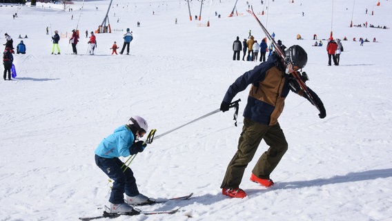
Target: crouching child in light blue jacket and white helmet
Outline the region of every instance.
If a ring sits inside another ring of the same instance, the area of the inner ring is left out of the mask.
[[[139,116],[130,117],[128,124],[115,129],[114,133],[104,138],[95,150],[95,163],[114,180],[109,199],[110,213],[137,213],[132,205],[155,202],[154,199],[139,193],[133,171],[129,167],[125,167],[124,171],[124,163],[119,160],[119,157],[128,157],[144,151],[147,144],[139,139],[147,130],[145,119]]]

